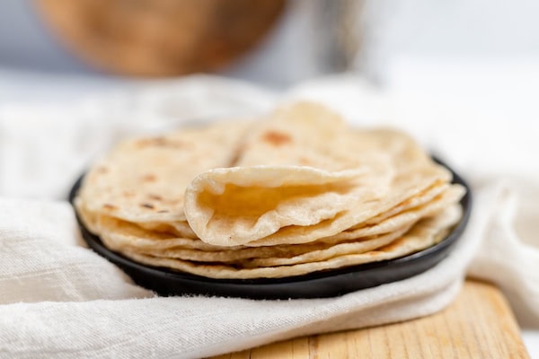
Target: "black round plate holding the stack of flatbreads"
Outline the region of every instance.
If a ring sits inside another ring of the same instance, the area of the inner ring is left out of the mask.
[[[443,241],[427,250],[421,250],[405,257],[325,270],[305,276],[213,279],[163,267],[150,267],[107,249],[99,237],[88,232],[78,215],[76,219],[84,241],[88,243],[90,248],[120,267],[137,285],[151,289],[160,295],[203,294],[252,299],[333,297],[418,275],[446,258],[464,232],[472,210],[472,195],[469,186],[454,171],[453,176],[453,181],[462,184],[467,190],[466,195],[461,200],[464,215],[455,229]],[[71,203],[73,203],[83,177],[77,180],[71,189],[69,194]]]

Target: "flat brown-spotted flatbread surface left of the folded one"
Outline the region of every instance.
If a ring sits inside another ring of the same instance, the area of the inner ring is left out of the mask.
[[[249,126],[220,122],[123,141],[86,174],[80,202],[133,223],[185,221],[185,188],[200,172],[230,165]]]

